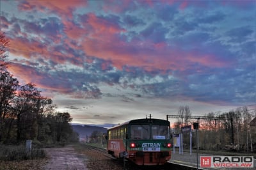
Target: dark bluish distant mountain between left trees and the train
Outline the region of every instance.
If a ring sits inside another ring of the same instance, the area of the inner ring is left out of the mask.
[[[72,125],[73,130],[79,134],[80,141],[88,141],[93,131],[101,132],[102,134],[107,133],[107,128],[95,127],[89,125]]]

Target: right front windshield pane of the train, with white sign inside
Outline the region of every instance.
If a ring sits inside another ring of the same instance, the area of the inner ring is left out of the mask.
[[[169,127],[164,125],[152,125],[153,139],[170,139]]]

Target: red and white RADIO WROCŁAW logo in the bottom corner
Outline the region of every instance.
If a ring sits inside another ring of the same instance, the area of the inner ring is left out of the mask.
[[[201,167],[253,167],[253,157],[200,157]]]

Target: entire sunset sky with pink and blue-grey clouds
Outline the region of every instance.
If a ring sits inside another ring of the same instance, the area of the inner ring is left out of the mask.
[[[8,71],[72,123],[256,108],[255,0],[0,0],[0,13]]]

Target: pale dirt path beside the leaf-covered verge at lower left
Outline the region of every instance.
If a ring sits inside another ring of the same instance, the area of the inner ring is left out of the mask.
[[[72,146],[64,148],[45,148],[49,160],[43,169],[63,170],[63,169],[79,169],[86,170],[86,157],[79,155],[74,151]]]

